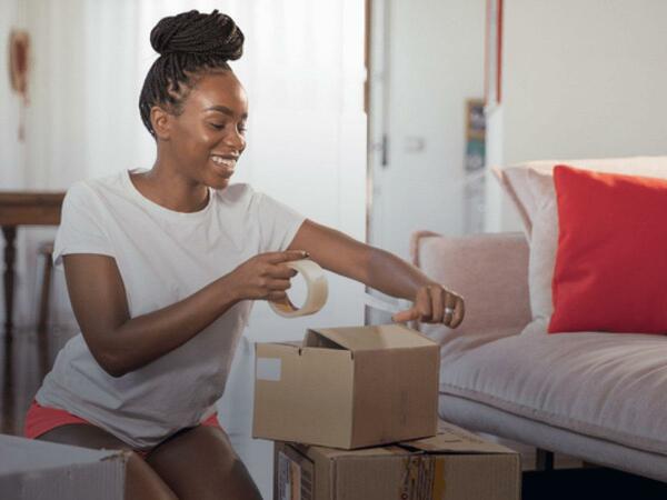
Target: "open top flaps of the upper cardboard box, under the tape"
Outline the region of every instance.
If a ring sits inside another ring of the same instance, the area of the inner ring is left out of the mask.
[[[322,342],[322,338],[332,342]],[[379,324],[375,327],[318,328],[309,329],[305,346],[342,348],[350,351],[374,351],[379,349],[409,349],[418,347],[437,348],[428,337],[402,324]]]

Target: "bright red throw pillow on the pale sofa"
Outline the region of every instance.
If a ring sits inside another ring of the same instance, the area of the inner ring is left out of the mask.
[[[554,168],[549,333],[667,332],[667,180]]]

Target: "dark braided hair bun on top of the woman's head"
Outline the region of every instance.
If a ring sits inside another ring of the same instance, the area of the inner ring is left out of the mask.
[[[243,33],[233,20],[213,10],[198,10],[162,18],[150,32],[150,44],[160,56],[216,54],[235,61],[243,53]]]

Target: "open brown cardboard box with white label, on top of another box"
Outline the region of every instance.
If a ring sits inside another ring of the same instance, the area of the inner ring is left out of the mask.
[[[256,344],[252,436],[355,449],[435,436],[439,346],[401,324]]]

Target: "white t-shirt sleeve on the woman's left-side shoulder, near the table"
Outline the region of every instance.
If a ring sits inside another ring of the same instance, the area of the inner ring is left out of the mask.
[[[62,202],[60,226],[53,244],[53,266],[62,266],[62,256],[98,253],[115,257],[111,241],[103,230],[101,211],[94,192],[83,182],[77,182]]]

